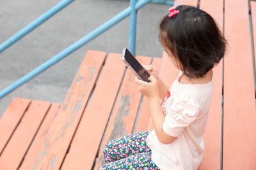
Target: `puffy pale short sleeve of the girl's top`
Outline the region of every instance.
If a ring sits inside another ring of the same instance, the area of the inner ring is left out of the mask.
[[[164,117],[163,131],[166,134],[178,137],[191,122],[198,116],[200,105],[194,97],[183,96],[173,99],[167,108]]]

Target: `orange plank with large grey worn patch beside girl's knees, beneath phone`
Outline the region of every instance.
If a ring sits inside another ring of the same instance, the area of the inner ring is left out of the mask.
[[[138,60],[141,64],[148,65],[151,58],[138,57]],[[120,138],[132,133],[132,127],[134,126],[141,99],[141,93],[138,92],[134,77],[134,73],[127,69],[102,145],[106,145],[111,139]],[[94,169],[98,169],[104,164],[102,147],[99,153],[99,159]]]

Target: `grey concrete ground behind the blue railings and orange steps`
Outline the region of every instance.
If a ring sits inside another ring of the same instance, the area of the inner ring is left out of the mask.
[[[60,0],[1,0],[0,43]],[[30,34],[0,53],[0,90],[129,6],[128,1],[76,0]],[[158,25],[169,6],[147,4],[138,11],[136,54],[161,57]],[[0,117],[13,97],[63,103],[87,50],[121,53],[128,46],[129,17],[93,39],[58,64],[0,99]]]

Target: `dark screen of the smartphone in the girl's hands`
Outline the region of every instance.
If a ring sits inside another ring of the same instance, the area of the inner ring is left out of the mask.
[[[140,62],[135,59],[135,57],[132,55],[129,50],[125,50],[124,59],[128,62],[128,64],[134,69],[134,71],[140,76],[140,78],[143,81],[150,82],[148,78],[150,77],[150,74],[141,66]]]

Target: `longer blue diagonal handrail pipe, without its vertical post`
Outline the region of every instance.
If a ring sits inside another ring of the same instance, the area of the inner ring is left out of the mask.
[[[138,3],[136,3],[136,5],[135,5],[135,9],[139,10],[140,8],[142,8],[145,4],[147,4],[149,2],[150,2],[150,0],[140,0],[140,1],[138,1]],[[99,36],[102,32],[108,30],[110,27],[112,27],[113,25],[117,24],[118,22],[120,22],[121,20],[126,18],[130,13],[131,13],[131,7],[126,8],[124,11],[121,11],[120,13],[115,15],[115,17],[111,18],[110,20],[108,20],[104,24],[97,27],[97,29],[94,29],[89,34],[86,34],[86,36],[84,36],[83,38],[76,41],[76,43],[73,43],[72,45],[68,46],[67,48],[65,48],[65,50],[61,51],[57,55],[54,55],[54,57],[47,60],[46,62],[44,62],[40,66],[36,67],[36,69],[34,69],[33,71],[29,72],[25,76],[22,76],[22,78],[15,81],[12,85],[6,87],[5,89],[3,89],[0,92],[0,99],[3,98],[4,96],[6,96],[7,94],[9,94],[10,92],[12,92],[13,90],[20,87],[20,85],[26,83],[26,81],[29,81],[29,80],[31,80],[31,78],[34,78],[36,75],[42,73],[43,71],[45,71],[45,69],[47,69],[47,68],[51,67],[52,65],[56,64],[61,59],[67,57],[67,55],[74,52],[75,50],[77,50],[81,46],[85,45],[86,43],[91,41],[93,38]]]

